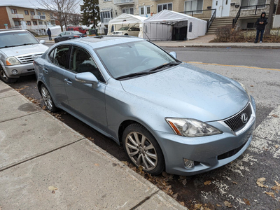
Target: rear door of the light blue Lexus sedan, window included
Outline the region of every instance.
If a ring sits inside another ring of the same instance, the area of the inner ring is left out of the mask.
[[[42,66],[45,85],[58,106],[68,107],[65,91],[64,71],[68,67],[69,45],[58,45],[48,54],[48,61]]]

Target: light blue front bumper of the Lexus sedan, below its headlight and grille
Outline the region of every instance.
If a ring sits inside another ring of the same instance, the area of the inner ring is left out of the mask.
[[[170,174],[191,176],[216,169],[238,158],[251,143],[255,129],[255,106],[251,120],[243,130],[235,133],[225,125],[209,123],[223,131],[207,137],[181,137],[166,132],[156,132],[165,156],[165,170]],[[195,167],[187,168],[183,159],[195,161]]]

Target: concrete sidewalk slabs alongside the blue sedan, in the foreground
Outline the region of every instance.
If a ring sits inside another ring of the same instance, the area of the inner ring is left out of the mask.
[[[0,209],[186,209],[0,81]]]

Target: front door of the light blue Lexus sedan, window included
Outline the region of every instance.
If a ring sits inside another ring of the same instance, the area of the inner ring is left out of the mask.
[[[91,72],[99,80],[99,86],[79,83],[77,73]],[[64,73],[66,94],[72,112],[85,123],[90,123],[103,131],[107,130],[105,109],[104,78],[87,50],[73,46],[71,49],[69,71]]]

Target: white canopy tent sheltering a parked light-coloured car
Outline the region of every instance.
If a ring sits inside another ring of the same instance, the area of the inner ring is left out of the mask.
[[[130,15],[123,13],[122,15],[118,16],[117,18],[114,18],[113,20],[109,21],[108,25],[108,34],[111,35],[113,34],[113,31],[118,31],[121,27],[124,26],[136,26],[139,27],[139,37],[143,38],[143,23],[144,20],[147,18],[141,17],[139,15]]]

